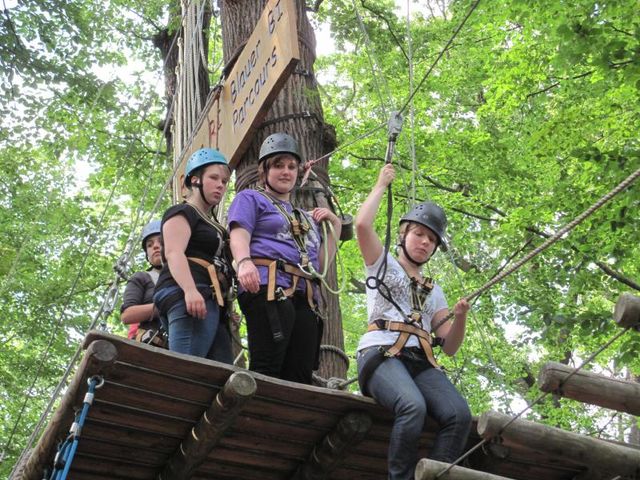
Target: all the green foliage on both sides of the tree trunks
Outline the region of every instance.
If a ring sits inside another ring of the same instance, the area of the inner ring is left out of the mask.
[[[435,6],[442,3],[412,3],[408,33],[394,2],[359,0],[365,34],[352,1],[322,2],[315,21],[330,25],[337,49],[315,70],[325,120],[343,145],[330,173],[346,212],[355,214],[382,165],[389,112],[404,108],[392,222],[414,197],[445,207],[453,248],[436,255],[429,272],[453,304],[640,167],[640,10],[637,2],[481,2],[421,82],[472,2],[451,1],[445,11]],[[166,25],[178,7],[27,0],[3,11],[0,438],[11,442],[0,446],[2,477],[170,173],[156,127],[165,105],[153,41],[179,27]],[[217,31],[212,64],[219,42]],[[407,104],[410,65],[420,89]],[[462,349],[441,358],[474,413],[520,410],[539,395],[543,362],[577,365],[617,333],[613,305],[632,290],[619,277],[640,283],[639,207],[636,185],[475,302]],[[384,220],[381,212],[381,235]],[[341,297],[345,348],[353,356],[366,328],[357,293],[364,270],[354,241],[340,252],[350,281]],[[138,256],[132,270],[143,265]],[[109,326],[124,333],[117,314]],[[593,368],[637,375],[639,348],[638,334],[628,333]],[[615,433],[609,413],[566,400],[548,397],[531,415]]]

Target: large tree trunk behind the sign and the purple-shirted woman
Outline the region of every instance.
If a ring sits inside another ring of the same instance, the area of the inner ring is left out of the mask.
[[[258,18],[262,14],[266,0],[218,0],[222,19],[224,60],[229,63],[251,35]],[[286,132],[296,138],[305,159],[313,160],[335,147],[335,132],[324,123],[318,85],[313,73],[315,61],[315,35],[305,12],[305,2],[296,1],[298,27],[297,41],[300,49],[300,63],[296,71],[286,81],[265,120],[258,126],[247,151],[238,162],[236,169],[236,190],[253,187],[257,181],[257,161],[260,144],[270,134]],[[314,167],[314,172],[325,183],[329,183],[328,161],[325,159]],[[294,194],[294,203],[305,209],[328,206],[321,184],[310,181]],[[329,271],[329,284],[335,288],[335,265]],[[342,317],[336,295],[325,292],[325,320],[323,344],[344,350]],[[323,354],[319,375],[324,378],[346,375],[346,362],[332,351]]]

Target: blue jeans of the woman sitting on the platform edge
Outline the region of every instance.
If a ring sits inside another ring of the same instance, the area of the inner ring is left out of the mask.
[[[376,348],[358,355],[358,373]],[[471,412],[467,402],[443,371],[427,368],[410,372],[403,361],[387,358],[371,375],[367,388],[375,400],[394,413],[389,439],[389,480],[412,480],[418,462],[418,440],[427,415],[440,430],[429,458],[451,463],[467,443]]]

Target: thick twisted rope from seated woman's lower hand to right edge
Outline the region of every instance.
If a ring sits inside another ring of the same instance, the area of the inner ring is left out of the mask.
[[[638,179],[638,177],[640,177],[640,169],[638,169],[635,172],[633,172],[631,175],[629,175],[627,178],[625,178],[622,182],[620,182],[615,188],[613,188],[610,192],[608,192],[606,195],[603,195],[599,200],[597,200],[587,210],[582,212],[574,220],[572,220],[571,222],[566,224],[564,227],[562,227],[560,230],[558,230],[555,234],[550,236],[542,245],[540,245],[539,247],[533,249],[529,254],[525,255],[522,259],[518,260],[511,267],[509,267],[508,269],[504,270],[500,274],[498,274],[495,277],[493,277],[491,280],[489,280],[487,283],[482,285],[480,288],[478,288],[474,292],[470,293],[469,295],[465,296],[465,298],[467,300],[472,300],[475,297],[478,297],[482,293],[484,293],[487,290],[489,290],[491,287],[493,287],[495,284],[499,283],[500,281],[502,281],[503,279],[505,279],[509,275],[511,275],[513,272],[518,270],[520,267],[522,267],[529,260],[531,260],[532,258],[536,257],[538,254],[542,253],[544,250],[549,248],[554,243],[558,242],[565,234],[567,234],[568,232],[573,230],[575,227],[577,227],[586,218],[588,218],[590,215],[592,215],[596,210],[598,210],[600,207],[602,207],[604,204],[606,204],[608,201],[610,201],[613,197],[615,197],[618,193],[623,191],[625,188],[627,188],[628,186],[633,184],[633,182],[636,181]],[[450,320],[451,318],[453,318],[453,313],[450,313],[445,318],[443,318],[440,322],[438,322],[438,324],[434,327],[433,332],[436,333],[438,328],[440,328],[446,321]]]

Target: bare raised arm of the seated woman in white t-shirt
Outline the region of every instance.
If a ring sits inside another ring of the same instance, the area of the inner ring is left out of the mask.
[[[380,242],[380,238],[373,228],[373,221],[378,213],[382,197],[395,176],[396,172],[393,165],[387,164],[382,167],[376,184],[371,189],[369,196],[360,207],[360,210],[358,210],[358,215],[356,216],[355,226],[358,246],[366,265],[373,265],[382,253],[382,242]]]

